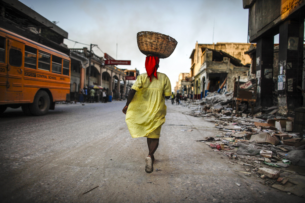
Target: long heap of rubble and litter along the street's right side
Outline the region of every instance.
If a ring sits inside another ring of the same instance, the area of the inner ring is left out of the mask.
[[[213,122],[219,130],[217,135],[197,142],[223,152],[228,163],[241,165],[243,170],[236,170],[239,176],[254,176],[262,184],[305,198],[301,184],[305,180],[305,131],[292,133],[293,118],[274,115],[277,107],[260,108],[256,117],[243,113],[246,107],[233,111],[228,102],[231,98],[209,94],[201,101],[183,102],[193,109],[184,114]]]

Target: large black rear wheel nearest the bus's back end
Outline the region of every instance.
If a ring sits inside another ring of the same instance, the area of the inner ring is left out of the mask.
[[[50,107],[50,98],[48,93],[43,90],[35,95],[34,102],[30,104],[30,111],[35,116],[46,114]]]

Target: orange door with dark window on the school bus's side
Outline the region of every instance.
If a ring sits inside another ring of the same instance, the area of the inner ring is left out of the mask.
[[[7,91],[22,91],[23,66],[22,51],[24,44],[8,38]]]

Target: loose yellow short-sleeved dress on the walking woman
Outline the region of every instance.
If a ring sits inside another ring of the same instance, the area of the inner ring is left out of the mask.
[[[157,77],[152,76],[150,82],[147,73],[143,73],[131,87],[137,92],[128,105],[125,120],[133,138],[160,136],[166,115],[164,96],[171,96],[171,86],[165,74],[157,72]]]

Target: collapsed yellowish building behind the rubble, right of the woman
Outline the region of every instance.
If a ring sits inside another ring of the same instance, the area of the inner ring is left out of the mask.
[[[201,99],[206,92],[217,91],[223,83],[223,91],[232,91],[235,77],[241,76],[240,81],[246,82],[251,58],[244,52],[250,45],[249,43],[198,44],[196,42],[196,47],[190,56],[192,66],[189,75],[192,77],[192,82],[187,86],[187,92],[191,93],[194,99]]]

